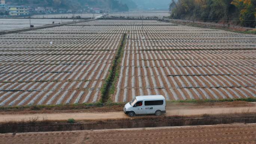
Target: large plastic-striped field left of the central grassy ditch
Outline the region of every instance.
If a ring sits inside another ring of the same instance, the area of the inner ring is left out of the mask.
[[[1,35],[0,105],[99,101],[122,34],[86,25]]]

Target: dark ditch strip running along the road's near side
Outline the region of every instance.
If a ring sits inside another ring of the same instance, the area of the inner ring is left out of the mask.
[[[255,113],[219,114],[201,116],[147,116],[128,119],[75,121],[37,121],[0,123],[0,133],[77,131],[94,129],[146,128],[160,126],[216,125],[229,123],[256,123]]]

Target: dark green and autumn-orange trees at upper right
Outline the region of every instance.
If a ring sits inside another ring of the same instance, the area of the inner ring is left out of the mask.
[[[171,18],[256,26],[256,0],[172,0],[169,10]]]

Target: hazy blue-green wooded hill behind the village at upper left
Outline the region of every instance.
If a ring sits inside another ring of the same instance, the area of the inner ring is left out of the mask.
[[[127,4],[123,4],[118,0],[9,0],[8,2],[17,3],[18,5],[64,9],[82,9],[88,4],[90,7],[99,7],[114,11],[129,10]]]

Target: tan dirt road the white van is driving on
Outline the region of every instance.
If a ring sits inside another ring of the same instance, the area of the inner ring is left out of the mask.
[[[251,107],[167,107],[165,116],[192,116],[201,114],[231,114],[256,112],[256,106]],[[123,111],[108,113],[43,113],[43,114],[0,114],[0,122],[31,120],[98,120],[98,119],[123,119],[128,118]]]

